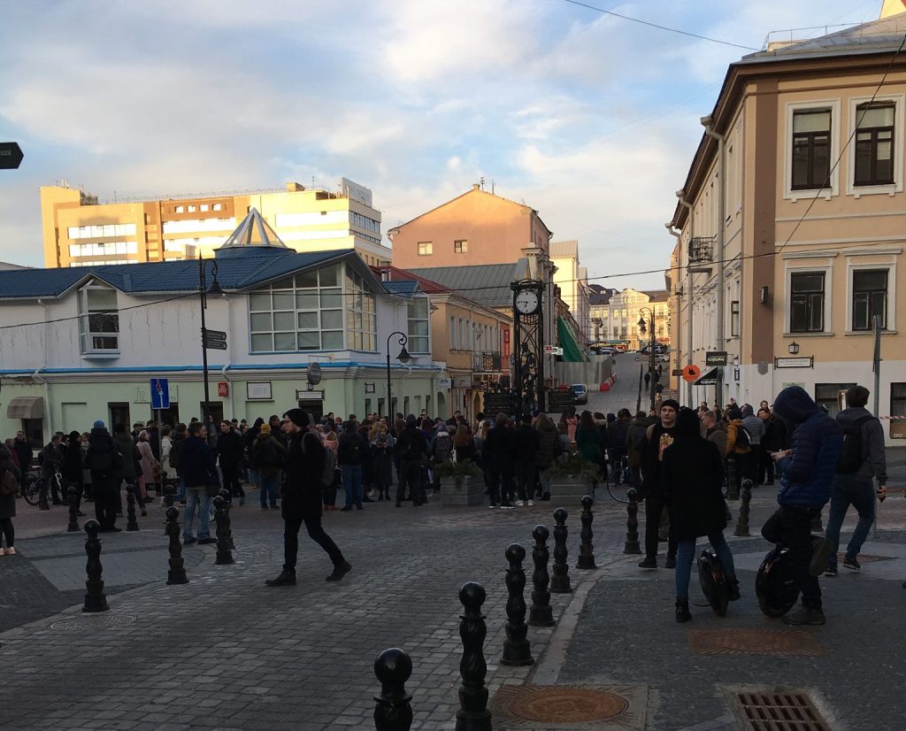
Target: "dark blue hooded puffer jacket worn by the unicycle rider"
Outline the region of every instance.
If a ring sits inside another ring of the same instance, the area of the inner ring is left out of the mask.
[[[837,460],[843,451],[843,429],[798,386],[777,394],[774,413],[795,426],[792,455],[777,460],[777,503],[824,505],[830,499]]]

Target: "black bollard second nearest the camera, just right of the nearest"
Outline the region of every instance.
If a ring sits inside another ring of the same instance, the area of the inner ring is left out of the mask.
[[[465,611],[459,615],[459,637],[462,638],[462,660],[459,675],[459,710],[456,714],[456,731],[491,731],[491,712],[487,710],[485,676],[485,636],[487,625],[481,605],[487,593],[481,584],[467,582],[459,590],[459,601]]]

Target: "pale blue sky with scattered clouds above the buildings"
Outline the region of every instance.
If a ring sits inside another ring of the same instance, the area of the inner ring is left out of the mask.
[[[728,63],[882,0],[587,5],[752,50],[564,0],[0,0],[0,141],[25,154],[0,261],[43,265],[38,188],[63,179],[104,201],[345,176],[386,232],[485,178],[594,284],[662,288],[633,273],[668,265]]]

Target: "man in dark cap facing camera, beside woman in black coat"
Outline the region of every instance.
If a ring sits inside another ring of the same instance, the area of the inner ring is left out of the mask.
[[[679,402],[667,399],[660,405],[660,421],[645,431],[645,450],[641,465],[641,492],[645,498],[645,558],[639,563],[643,569],[658,567],[658,529],[661,514],[667,510],[660,464],[664,458],[664,450],[673,444],[678,412]],[[664,568],[674,569],[676,565],[677,542],[671,531]]]

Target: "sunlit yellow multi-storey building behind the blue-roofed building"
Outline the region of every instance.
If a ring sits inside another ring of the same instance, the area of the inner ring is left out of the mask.
[[[100,203],[62,186],[41,188],[44,265],[132,264],[213,255],[255,208],[299,252],[354,249],[369,265],[390,261],[371,190],[342,178],[338,191],[284,190]]]

